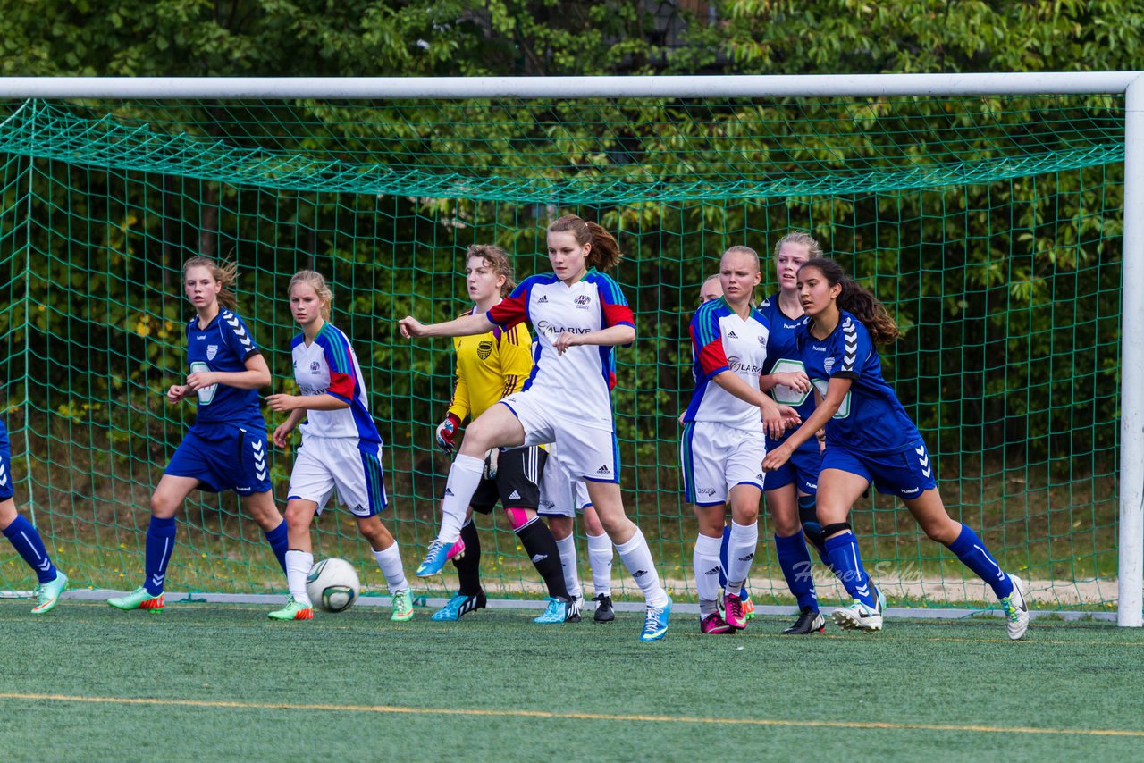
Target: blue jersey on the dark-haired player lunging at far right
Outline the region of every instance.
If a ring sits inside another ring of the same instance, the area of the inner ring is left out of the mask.
[[[795,341],[811,383],[825,397],[834,376],[852,380],[837,413],[826,424],[826,445],[865,453],[903,451],[921,440],[897,395],[882,379],[882,360],[860,320],[841,311],[839,325],[819,340],[810,321],[799,327]]]

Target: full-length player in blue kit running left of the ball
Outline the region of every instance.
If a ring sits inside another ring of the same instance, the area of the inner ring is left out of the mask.
[[[270,492],[267,422],[259,389],[270,383],[270,368],[254,337],[235,312],[233,263],[209,257],[183,263],[183,291],[194,308],[186,325],[186,383],[173,384],[167,402],[194,398],[194,423],[178,444],[151,494],[143,585],[108,599],[120,610],[162,610],[167,564],[175,547],[175,512],[193,490],[238,493],[243,509],[259,523],[278,564],[286,569],[286,522]]]

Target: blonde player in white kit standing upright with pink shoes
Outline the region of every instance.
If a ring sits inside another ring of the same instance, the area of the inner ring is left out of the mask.
[[[780,435],[788,422],[797,421],[792,408],[760,391],[770,333],[766,318],[752,305],[761,279],[755,251],[731,247],[720,262],[723,297],[700,305],[691,320],[696,391],[684,414],[680,456],[686,499],[694,504],[699,522],[693,563],[704,634],[747,627],[741,590],[758,545],[761,464],[766,454],[763,430]],[[728,501],[731,534],[724,620],[718,613],[717,580]]]

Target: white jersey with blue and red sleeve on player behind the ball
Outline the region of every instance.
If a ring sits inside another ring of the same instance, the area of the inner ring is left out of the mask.
[[[299,334],[291,341],[294,381],[302,395],[332,395],[349,403],[340,411],[308,411],[299,428],[302,442],[309,437],[352,437],[363,443],[381,443],[381,435],[370,415],[365,380],[349,339],[329,323],[323,325],[313,342]]]

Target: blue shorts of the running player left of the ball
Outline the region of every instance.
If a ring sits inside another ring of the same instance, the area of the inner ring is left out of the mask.
[[[270,490],[267,431],[228,424],[191,427],[164,474],[193,477],[208,493],[264,493]]]

